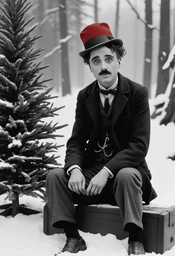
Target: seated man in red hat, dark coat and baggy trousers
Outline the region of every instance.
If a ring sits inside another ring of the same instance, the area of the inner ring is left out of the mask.
[[[78,94],[64,169],[47,175],[52,226],[64,228],[67,240],[61,252],[77,253],[86,250],[86,243],[78,232],[74,204],[118,205],[123,229],[129,232],[129,255],[145,254],[142,202],[157,197],[145,161],[150,142],[148,91],[118,72],[126,50],[106,23],[89,25],[80,38],[85,51],[79,55],[96,81]]]

